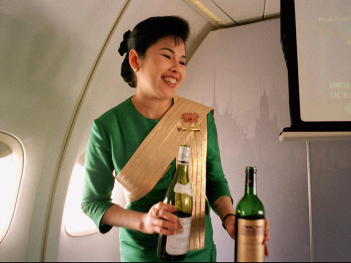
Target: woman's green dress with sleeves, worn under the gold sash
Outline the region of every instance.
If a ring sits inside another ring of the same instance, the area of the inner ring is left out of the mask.
[[[223,174],[212,112],[207,118],[205,248],[189,251],[183,261],[216,261],[210,206],[220,196],[231,196]],[[82,210],[94,220],[101,233],[106,233],[112,228],[101,223],[101,217],[113,205],[111,201],[114,186],[113,170],[116,174],[121,171],[158,121],[142,116],[135,109],[131,98],[94,120],[85,157]],[[125,208],[146,213],[152,205],[163,201],[174,172],[175,159],[167,173],[148,194],[135,202],[127,203]],[[163,261],[156,255],[158,234],[145,234],[120,227],[119,239],[121,261]]]

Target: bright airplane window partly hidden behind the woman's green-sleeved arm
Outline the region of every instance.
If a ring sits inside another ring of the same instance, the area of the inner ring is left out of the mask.
[[[85,215],[80,208],[84,178],[84,158],[85,152],[80,156],[73,168],[63,213],[66,232],[71,236],[83,236],[99,231],[93,220]],[[117,189],[118,183],[115,183],[111,194],[112,202],[116,201]]]

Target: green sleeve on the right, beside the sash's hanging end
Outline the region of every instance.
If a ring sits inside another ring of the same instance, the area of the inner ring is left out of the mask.
[[[207,115],[207,164],[206,164],[206,196],[213,209],[217,198],[228,195],[232,198],[227,179],[223,173],[218,146],[218,135],[213,113]],[[233,199],[232,199],[233,203]]]

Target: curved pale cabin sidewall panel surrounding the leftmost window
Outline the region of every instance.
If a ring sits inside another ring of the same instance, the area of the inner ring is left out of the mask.
[[[26,160],[15,216],[0,244],[2,259],[41,258],[45,216],[67,125],[121,4],[0,4],[0,129],[21,140]]]

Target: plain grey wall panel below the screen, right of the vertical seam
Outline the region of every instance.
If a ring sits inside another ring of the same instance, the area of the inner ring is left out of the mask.
[[[351,141],[310,142],[313,259],[351,260]]]

